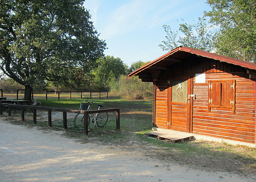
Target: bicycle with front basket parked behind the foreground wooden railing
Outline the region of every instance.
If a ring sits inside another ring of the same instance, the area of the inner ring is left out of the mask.
[[[88,104],[87,104],[87,103]],[[80,108],[79,108],[79,110],[81,110],[81,111],[84,111],[84,110],[86,110],[86,111],[91,111],[92,109],[91,109],[91,104],[92,103],[95,103],[95,102],[93,102],[93,101],[87,101],[87,100],[84,100],[84,102],[80,102]],[[99,106],[99,108],[98,108],[98,110],[101,108],[101,107],[103,107],[103,105],[102,104],[98,104],[98,106]],[[93,123],[93,126],[94,127],[103,127],[103,126],[105,126],[106,125],[106,123],[108,122],[108,119],[109,119],[109,115],[108,115],[108,113],[107,112],[102,112],[102,113],[96,113],[96,115],[94,115],[93,113],[92,114],[90,114],[91,115],[91,117],[92,117],[92,119],[90,119],[90,116],[88,115],[88,126],[89,126],[89,124],[90,123]],[[75,119],[74,119],[74,125],[76,125],[76,123],[78,123],[78,122],[83,122],[84,121],[84,115],[82,115],[82,114],[77,114],[76,116],[75,116]]]

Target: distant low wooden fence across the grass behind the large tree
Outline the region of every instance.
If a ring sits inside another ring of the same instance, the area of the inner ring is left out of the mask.
[[[2,91],[2,97],[3,97],[3,89],[0,89]],[[19,91],[20,90],[25,90],[25,89],[17,89],[17,100],[19,100]],[[99,99],[101,99],[101,93],[107,93],[107,98],[109,98],[109,92],[108,91],[99,91],[99,92],[94,92],[94,91],[62,91],[62,92],[55,92],[55,91],[48,91],[47,89],[45,90],[45,99],[48,99],[48,93],[58,93],[58,100],[60,100],[60,93],[69,93],[69,99],[71,99],[71,93],[80,93],[80,98],[82,99],[82,93],[89,93],[90,92],[90,99],[91,99],[91,93],[99,93]],[[32,90],[32,100],[34,99],[34,92]]]

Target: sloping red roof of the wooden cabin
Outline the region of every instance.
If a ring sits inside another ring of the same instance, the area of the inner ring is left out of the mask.
[[[167,58],[167,57],[178,58],[178,56],[181,55],[179,53],[196,54],[198,56],[207,57],[207,58],[211,58],[211,59],[216,59],[216,60],[219,60],[219,61],[223,61],[223,62],[231,63],[231,64],[234,64],[234,65],[246,67],[246,68],[249,68],[249,69],[252,69],[252,70],[256,70],[256,64],[255,63],[246,62],[246,61],[243,61],[243,60],[240,60],[240,59],[230,58],[230,57],[215,54],[215,53],[209,53],[207,51],[201,51],[201,50],[198,50],[198,49],[193,49],[191,47],[177,47],[176,49],[171,50],[169,53],[166,53],[166,54],[162,55],[161,57],[159,57],[159,58],[155,59],[154,61],[148,63],[147,65],[139,68],[138,70],[133,71],[128,76],[132,77],[132,76],[140,73],[141,71],[147,69],[148,67],[153,66],[156,63],[159,63],[164,58]]]

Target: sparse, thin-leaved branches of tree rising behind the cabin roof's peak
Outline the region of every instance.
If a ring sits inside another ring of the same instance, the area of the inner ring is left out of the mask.
[[[184,20],[181,19],[183,22]],[[181,23],[179,31],[173,31],[170,26],[163,25],[165,32],[167,33],[166,41],[163,40],[159,46],[163,51],[170,51],[178,46],[188,46],[203,51],[212,51],[213,46],[213,34],[210,27],[206,24],[206,18],[198,18],[196,24],[190,25],[187,23]],[[177,35],[182,34],[178,40]]]

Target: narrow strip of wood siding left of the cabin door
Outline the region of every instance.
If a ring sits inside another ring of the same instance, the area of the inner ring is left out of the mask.
[[[167,79],[157,81],[155,98],[155,125],[158,128],[167,129]]]

